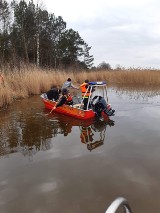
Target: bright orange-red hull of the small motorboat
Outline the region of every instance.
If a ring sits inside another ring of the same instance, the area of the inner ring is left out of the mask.
[[[50,101],[50,100],[44,99],[44,98],[42,98],[42,101],[43,101],[45,107],[50,110],[52,110],[56,104],[55,101]],[[54,110],[54,112],[61,113],[64,115],[69,115],[69,116],[72,116],[72,117],[75,117],[78,119],[82,119],[82,120],[87,120],[87,119],[95,117],[95,112],[92,109],[83,110],[83,109],[77,108],[74,105],[69,106],[69,105],[64,104],[63,106],[57,107]]]

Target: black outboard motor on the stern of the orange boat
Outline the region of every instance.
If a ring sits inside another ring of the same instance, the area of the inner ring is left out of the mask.
[[[105,101],[105,99],[101,96],[95,96],[92,99],[92,106],[96,112],[98,117],[101,117],[102,112],[104,112],[108,116],[113,116],[115,110],[110,107],[109,104]]]

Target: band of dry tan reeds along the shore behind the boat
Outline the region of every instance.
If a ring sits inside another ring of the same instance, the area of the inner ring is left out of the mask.
[[[4,69],[4,85],[0,84],[0,107],[11,104],[15,99],[39,95],[53,85],[61,88],[68,77],[79,86],[85,79],[107,81],[109,87],[146,87],[160,90],[160,70],[123,69],[74,71],[41,69],[36,66],[23,66],[20,70]]]

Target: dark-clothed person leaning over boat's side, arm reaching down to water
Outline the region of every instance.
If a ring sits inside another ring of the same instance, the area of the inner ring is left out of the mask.
[[[73,105],[72,96],[70,95],[69,91],[66,88],[62,89],[62,96],[60,97],[56,105],[53,107],[53,110],[56,109],[57,107],[62,106],[63,104]]]

